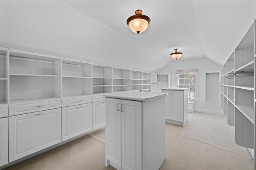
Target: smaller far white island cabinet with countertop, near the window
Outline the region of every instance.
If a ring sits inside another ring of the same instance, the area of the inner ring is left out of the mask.
[[[162,88],[166,93],[166,122],[185,126],[188,121],[188,90],[185,88]]]

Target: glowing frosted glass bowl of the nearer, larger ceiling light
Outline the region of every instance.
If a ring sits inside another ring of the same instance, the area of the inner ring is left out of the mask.
[[[148,21],[141,18],[134,19],[130,21],[129,27],[134,33],[137,33],[137,31],[139,31],[139,33],[142,33],[147,29]]]

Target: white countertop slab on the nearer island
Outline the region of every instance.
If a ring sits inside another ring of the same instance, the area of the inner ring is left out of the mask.
[[[135,100],[135,101],[149,101],[157,98],[161,98],[166,96],[166,93],[156,93],[156,92],[114,92],[114,93],[106,93],[102,94],[102,96],[106,96],[107,98],[117,98],[117,99],[125,99],[125,100]]]

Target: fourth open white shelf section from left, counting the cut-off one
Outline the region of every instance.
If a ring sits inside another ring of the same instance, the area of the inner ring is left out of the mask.
[[[103,94],[112,92],[112,74],[111,66],[92,64],[92,94]]]

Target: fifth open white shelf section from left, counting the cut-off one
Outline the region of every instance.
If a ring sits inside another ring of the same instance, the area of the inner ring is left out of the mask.
[[[113,67],[113,92],[130,91],[130,70]]]

